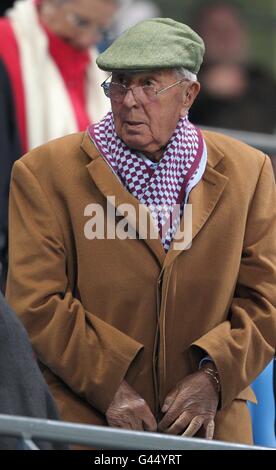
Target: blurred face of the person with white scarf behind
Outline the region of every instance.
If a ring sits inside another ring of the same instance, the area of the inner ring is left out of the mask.
[[[101,40],[116,11],[115,0],[44,0],[40,16],[57,36],[83,50]]]

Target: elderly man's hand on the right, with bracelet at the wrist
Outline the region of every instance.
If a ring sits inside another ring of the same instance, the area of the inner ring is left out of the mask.
[[[162,407],[165,416],[158,425],[159,431],[191,437],[202,428],[203,437],[213,439],[219,392],[204,367],[182,379],[169,392]]]

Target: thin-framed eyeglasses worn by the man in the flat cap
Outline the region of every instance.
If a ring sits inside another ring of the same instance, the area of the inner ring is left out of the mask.
[[[164,93],[164,91],[167,91],[184,81],[189,81],[187,78],[182,78],[181,80],[178,80],[169,86],[161,88],[160,90],[156,90],[153,85],[137,85],[133,87],[127,87],[121,83],[107,82],[110,77],[111,75],[107,77],[107,79],[101,84],[101,87],[103,88],[103,91],[108,98],[112,99],[113,101],[117,101],[118,103],[124,100],[129,90],[132,91],[136,101],[145,103],[146,101],[155,101],[157,96],[161,93]]]

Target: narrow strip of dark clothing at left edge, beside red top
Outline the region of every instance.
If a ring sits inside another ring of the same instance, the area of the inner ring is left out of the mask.
[[[20,145],[13,98],[6,69],[0,61],[0,288],[2,289],[4,289],[8,263],[10,175],[13,163],[19,156]]]

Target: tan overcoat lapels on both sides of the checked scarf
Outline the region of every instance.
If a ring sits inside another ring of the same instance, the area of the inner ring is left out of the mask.
[[[192,240],[195,239],[212,214],[228,182],[228,178],[223,174],[223,152],[214,144],[212,134],[208,132],[204,132],[203,134],[207,145],[208,162],[203,178],[191,191],[188,200],[188,203],[192,204]],[[141,209],[139,201],[123,187],[119,179],[112,172],[91,141],[88,132],[84,134],[81,148],[91,158],[91,162],[87,165],[87,169],[99,191],[101,191],[105,197],[113,196],[116,209],[118,209],[121,204],[130,204],[134,207],[136,218],[134,218],[132,214],[126,215],[126,218],[131,226],[138,230],[139,207],[140,210],[145,211],[144,215],[146,214],[148,221],[151,217],[149,210],[144,206]],[[184,221],[185,216],[182,217],[180,222],[180,230],[182,233],[184,231]],[[143,238],[143,241],[147,244],[159,262],[160,267],[163,269],[171,264],[180,253],[188,248],[188,245],[185,243],[181,243],[180,249],[176,248],[175,242],[172,242],[172,246],[166,254],[158,234],[156,234],[156,237],[152,239],[149,237],[144,238],[143,234],[139,233],[139,230],[138,234]]]

